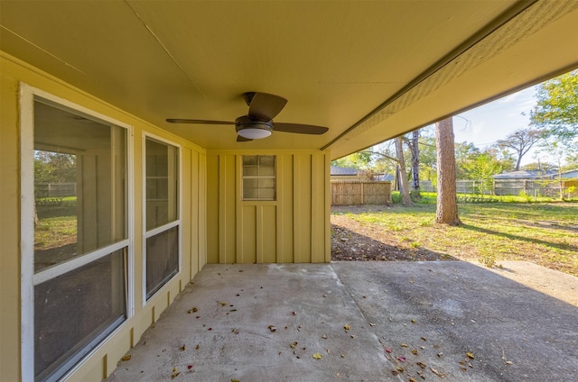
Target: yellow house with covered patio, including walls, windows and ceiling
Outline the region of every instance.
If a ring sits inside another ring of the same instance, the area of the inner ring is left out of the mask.
[[[332,159],[578,62],[567,2],[0,1],[0,14],[6,381],[101,381],[205,264],[329,262]],[[238,137],[245,114],[253,141]],[[167,122],[182,118],[204,122]],[[287,132],[311,125],[329,132]],[[42,153],[75,159],[71,205],[35,200]],[[68,230],[43,234],[56,213]]]

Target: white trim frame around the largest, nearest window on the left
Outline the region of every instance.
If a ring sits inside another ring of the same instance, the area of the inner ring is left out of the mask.
[[[21,378],[23,381],[34,380],[34,368],[31,362],[24,362],[24,359],[34,359],[34,286],[42,283],[43,280],[53,277],[55,274],[62,274],[70,270],[70,265],[76,268],[84,261],[80,259],[71,259],[57,267],[47,269],[43,272],[34,274],[34,101],[42,98],[51,103],[62,105],[73,109],[82,114],[88,114],[101,121],[112,123],[118,127],[126,129],[126,157],[127,157],[127,187],[128,196],[126,200],[127,210],[127,228],[128,239],[118,241],[117,243],[107,246],[107,253],[110,253],[115,246],[118,248],[127,247],[127,268],[126,268],[126,320],[121,323],[116,330],[107,335],[100,344],[67,372],[63,378],[70,376],[77,370],[87,359],[89,359],[99,348],[101,348],[108,338],[115,335],[135,314],[135,287],[134,287],[134,164],[133,164],[133,126],[110,118],[105,114],[97,113],[87,107],[70,102],[59,96],[54,96],[42,89],[30,86],[23,82],[20,83],[19,89],[19,116],[20,116],[20,189],[21,189],[21,217],[20,217],[20,261],[21,261],[21,282],[20,282],[20,304],[21,304],[21,322],[20,322],[20,349],[21,349]],[[95,250],[87,256],[87,262],[103,257],[100,252],[104,250]],[[84,258],[84,257],[83,257]],[[46,278],[48,277],[48,278]],[[32,362],[33,365],[33,362]]]

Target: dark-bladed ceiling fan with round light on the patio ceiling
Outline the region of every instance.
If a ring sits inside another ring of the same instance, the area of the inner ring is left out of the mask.
[[[300,134],[322,134],[329,128],[301,123],[274,123],[273,118],[283,110],[287,100],[282,96],[268,93],[248,92],[243,99],[249,106],[249,113],[233,121],[210,121],[182,118],[168,118],[170,123],[234,124],[238,142],[266,138],[271,132],[296,132]]]

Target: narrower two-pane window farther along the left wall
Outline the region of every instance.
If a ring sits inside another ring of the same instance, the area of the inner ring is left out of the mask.
[[[179,149],[144,139],[145,295],[148,300],[179,271]]]

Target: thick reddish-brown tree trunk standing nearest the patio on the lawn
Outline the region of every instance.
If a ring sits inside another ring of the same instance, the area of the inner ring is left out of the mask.
[[[435,223],[460,225],[455,184],[452,117],[435,123],[437,151],[437,209]]]

